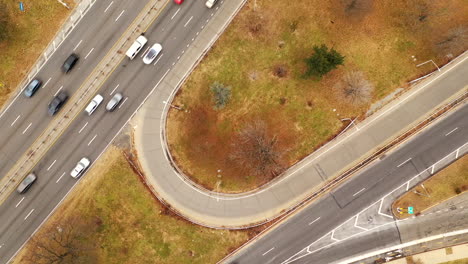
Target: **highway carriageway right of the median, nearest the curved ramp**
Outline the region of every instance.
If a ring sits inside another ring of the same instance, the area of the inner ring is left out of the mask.
[[[30,191],[13,194],[0,206],[0,263],[15,254],[77,183],[69,175],[76,162],[83,156],[95,162],[148,94],[154,89],[159,92],[157,84],[211,18],[211,12],[203,2],[187,1],[181,6],[171,2],[160,13],[145,36],[148,46],[156,41],[163,45],[161,56],[151,65],[143,64],[143,52],[132,61],[124,58],[99,90],[105,98],[103,105],[92,116],[79,114],[34,168],[38,180]],[[114,112],[107,113],[104,105],[116,92],[124,99]]]

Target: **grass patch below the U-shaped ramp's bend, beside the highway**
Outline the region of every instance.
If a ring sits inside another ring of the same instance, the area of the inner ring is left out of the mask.
[[[74,250],[52,242],[60,234],[69,234],[62,241]],[[37,257],[50,256],[38,246],[65,255],[60,263],[216,263],[248,237],[249,231],[214,230],[174,216],[111,148],[14,263],[51,263]]]

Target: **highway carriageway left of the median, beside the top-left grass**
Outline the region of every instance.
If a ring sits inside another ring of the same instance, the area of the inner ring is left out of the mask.
[[[47,105],[53,96],[59,90],[73,95],[146,3],[96,1],[36,75],[43,86],[32,98],[20,94],[3,110],[0,114],[0,177],[7,174],[52,120],[47,115]],[[61,66],[72,52],[77,53],[80,60],[70,73],[64,74]]]

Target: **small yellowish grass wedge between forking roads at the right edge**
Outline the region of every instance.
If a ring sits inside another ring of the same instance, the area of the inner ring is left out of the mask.
[[[393,203],[393,212],[398,218],[411,217],[412,215],[407,214],[406,211],[403,214],[397,213],[396,208],[412,206],[414,214],[418,215],[466,191],[468,191],[468,155],[401,196]]]

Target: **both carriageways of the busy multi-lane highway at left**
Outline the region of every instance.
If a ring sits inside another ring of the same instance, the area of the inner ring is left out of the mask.
[[[49,124],[47,104],[52,97],[60,90],[72,95],[146,4],[147,1],[96,1],[37,74],[44,83],[37,94],[32,98],[19,95],[1,114],[0,175],[11,169]],[[113,94],[122,93],[124,99],[118,109],[109,113],[101,105],[91,116],[84,112],[78,115],[36,164],[38,180],[32,188],[24,195],[13,193],[0,206],[0,263],[6,263],[15,254],[77,183],[69,175],[76,162],[84,156],[95,161],[150,91],[156,88],[157,92],[157,85],[216,10],[207,9],[203,1],[186,1],[182,5],[166,1],[161,6],[165,7],[145,36],[149,40],[147,46],[161,43],[162,53],[151,65],[144,65],[141,59],[147,47],[132,61],[123,58],[98,91],[105,98],[103,104]],[[60,66],[72,52],[80,55],[80,61],[65,75]]]

